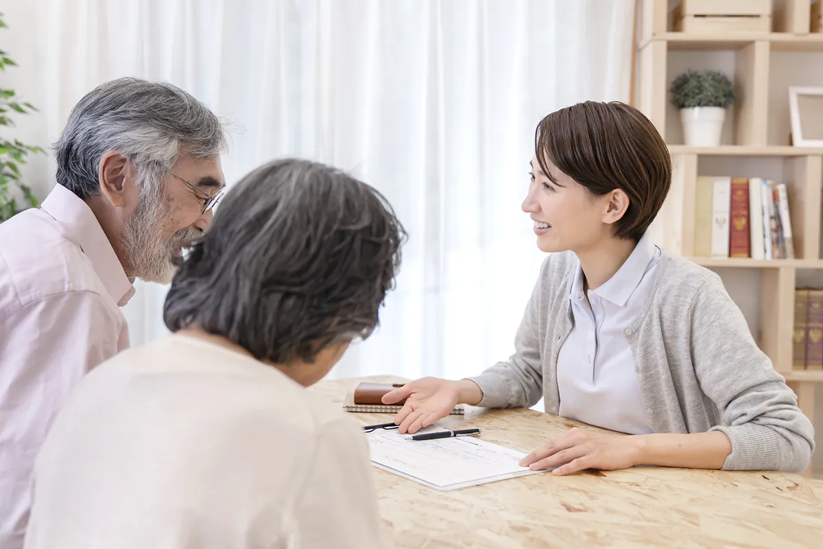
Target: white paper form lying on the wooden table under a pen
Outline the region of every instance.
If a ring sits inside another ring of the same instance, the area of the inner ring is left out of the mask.
[[[412,440],[396,430],[367,434],[371,460],[393,472],[437,490],[454,490],[542,471],[520,467],[526,454],[470,436]]]

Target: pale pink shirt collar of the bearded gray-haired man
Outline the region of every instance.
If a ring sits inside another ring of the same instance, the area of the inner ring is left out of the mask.
[[[69,239],[75,241],[91,260],[97,276],[117,305],[126,305],[134,295],[134,286],[89,205],[77,194],[57,184],[41,207],[63,225]]]

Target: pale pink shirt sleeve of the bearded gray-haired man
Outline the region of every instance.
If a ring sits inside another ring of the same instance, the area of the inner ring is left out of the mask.
[[[22,539],[49,426],[82,375],[118,351],[122,323],[88,291],[49,295],[0,319],[0,541]]]

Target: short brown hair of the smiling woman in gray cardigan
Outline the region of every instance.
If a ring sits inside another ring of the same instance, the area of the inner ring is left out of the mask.
[[[620,188],[629,207],[615,236],[638,241],[658,215],[672,184],[672,158],[653,123],[619,101],[586,101],[537,124],[537,162],[546,159],[595,196]]]

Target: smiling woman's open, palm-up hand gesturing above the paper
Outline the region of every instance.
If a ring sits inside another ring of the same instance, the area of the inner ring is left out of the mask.
[[[394,416],[401,433],[415,433],[423,427],[448,416],[459,403],[477,404],[483,393],[469,379],[421,378],[396,388],[383,396],[384,404],[393,404],[406,398],[402,409]]]

